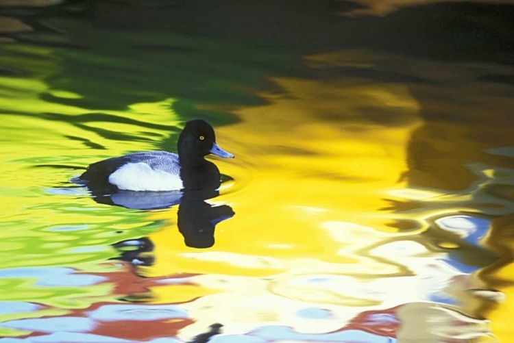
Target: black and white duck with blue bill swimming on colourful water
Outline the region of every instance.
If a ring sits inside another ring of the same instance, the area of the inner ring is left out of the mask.
[[[205,157],[234,158],[219,147],[214,129],[203,119],[186,122],[177,152],[145,151],[108,158],[90,164],[72,181],[92,190],[214,190],[221,186],[219,169]]]

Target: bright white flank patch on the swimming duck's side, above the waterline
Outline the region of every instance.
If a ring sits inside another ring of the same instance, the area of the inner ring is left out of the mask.
[[[143,162],[128,163],[109,176],[109,183],[121,190],[181,190],[180,175],[152,169]]]

